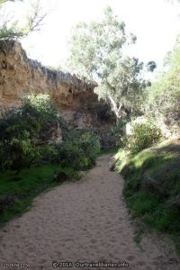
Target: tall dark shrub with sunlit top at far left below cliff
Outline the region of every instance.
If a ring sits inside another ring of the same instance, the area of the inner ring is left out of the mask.
[[[21,108],[10,110],[0,120],[0,168],[20,170],[40,159],[40,140],[58,114],[44,94],[23,98]]]

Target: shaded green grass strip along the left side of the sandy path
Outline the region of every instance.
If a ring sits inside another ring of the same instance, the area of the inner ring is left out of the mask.
[[[56,172],[64,172],[69,178],[75,176],[71,168],[53,165],[31,166],[19,175],[14,171],[0,173],[0,227],[15,215],[27,211],[38,194],[60,184],[53,180]]]

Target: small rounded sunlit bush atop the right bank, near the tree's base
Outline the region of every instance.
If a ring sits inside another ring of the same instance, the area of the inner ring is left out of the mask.
[[[135,123],[132,134],[127,139],[126,148],[130,154],[137,154],[139,151],[152,146],[161,138],[161,132],[152,123]]]

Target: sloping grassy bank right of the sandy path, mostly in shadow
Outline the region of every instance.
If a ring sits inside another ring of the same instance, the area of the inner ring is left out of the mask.
[[[120,149],[115,159],[115,168],[125,180],[123,195],[132,217],[180,239],[180,207],[172,203],[180,194],[179,140],[166,140],[134,157]],[[180,245],[177,248],[180,252]]]

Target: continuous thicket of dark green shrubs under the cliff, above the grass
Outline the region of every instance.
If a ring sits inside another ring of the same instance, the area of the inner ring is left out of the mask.
[[[58,112],[44,94],[23,98],[23,106],[6,112],[0,120],[0,168],[21,170],[32,164],[58,164],[84,170],[95,164],[99,138],[87,130],[64,130],[59,145],[49,145],[60,123]]]

